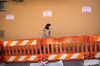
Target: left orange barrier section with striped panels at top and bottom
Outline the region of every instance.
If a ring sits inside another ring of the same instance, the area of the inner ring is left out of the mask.
[[[40,39],[4,41],[5,62],[37,62]]]

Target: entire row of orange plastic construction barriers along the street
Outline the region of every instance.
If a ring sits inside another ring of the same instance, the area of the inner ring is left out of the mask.
[[[100,35],[3,41],[5,62],[100,59]]]

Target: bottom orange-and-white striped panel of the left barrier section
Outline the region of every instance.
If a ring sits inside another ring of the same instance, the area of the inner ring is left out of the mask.
[[[23,56],[5,56],[6,62],[36,62],[38,61],[37,55],[23,55]]]

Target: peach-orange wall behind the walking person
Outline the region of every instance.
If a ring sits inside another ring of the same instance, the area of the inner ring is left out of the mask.
[[[7,12],[2,14],[1,25],[5,39],[37,38],[46,23],[52,24],[52,36],[100,34],[100,0],[25,0],[22,3],[8,2]],[[90,6],[91,13],[82,13],[83,6]],[[43,17],[45,10],[52,17]],[[6,20],[6,14],[15,15]]]

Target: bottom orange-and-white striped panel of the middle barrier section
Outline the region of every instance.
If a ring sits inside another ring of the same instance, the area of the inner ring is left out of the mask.
[[[83,60],[83,53],[66,53],[66,54],[50,54],[48,55],[48,60]]]

